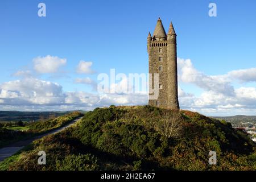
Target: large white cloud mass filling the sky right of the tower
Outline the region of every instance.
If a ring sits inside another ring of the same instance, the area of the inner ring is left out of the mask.
[[[255,81],[255,69],[242,69],[226,75],[207,76],[197,71],[191,60],[178,59],[178,78],[180,82],[190,83],[203,89],[200,96],[185,93],[179,89],[181,108],[204,113],[230,113],[240,110],[256,109],[256,89],[253,87],[234,88],[233,81]]]

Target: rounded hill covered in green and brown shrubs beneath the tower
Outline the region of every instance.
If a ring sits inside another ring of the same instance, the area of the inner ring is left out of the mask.
[[[0,169],[254,170],[255,147],[230,123],[199,113],[110,106],[89,111],[75,127],[36,140]],[[37,163],[42,150],[45,166]],[[217,165],[209,165],[209,151],[217,152]]]

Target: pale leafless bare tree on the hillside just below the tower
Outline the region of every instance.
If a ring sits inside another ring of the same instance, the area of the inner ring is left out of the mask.
[[[166,112],[157,123],[160,133],[168,138],[180,137],[182,130],[183,117],[179,112]]]

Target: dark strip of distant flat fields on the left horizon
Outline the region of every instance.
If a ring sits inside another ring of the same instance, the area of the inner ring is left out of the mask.
[[[22,111],[0,111],[0,122],[29,122],[38,121],[42,119],[49,119],[50,117],[59,117],[60,115],[68,114],[66,112],[22,112]]]

